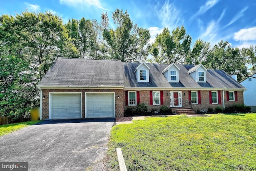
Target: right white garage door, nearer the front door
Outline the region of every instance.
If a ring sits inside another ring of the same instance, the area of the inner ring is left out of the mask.
[[[87,93],[86,117],[108,118],[115,117],[114,93]]]

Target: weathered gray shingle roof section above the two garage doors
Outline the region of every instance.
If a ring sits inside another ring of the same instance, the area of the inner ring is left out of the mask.
[[[123,87],[120,64],[120,60],[58,58],[38,86]]]

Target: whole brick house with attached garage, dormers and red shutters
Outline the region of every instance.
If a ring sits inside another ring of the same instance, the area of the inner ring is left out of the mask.
[[[200,65],[58,58],[38,84],[41,119],[122,117],[128,106],[198,110],[243,104],[244,86]]]

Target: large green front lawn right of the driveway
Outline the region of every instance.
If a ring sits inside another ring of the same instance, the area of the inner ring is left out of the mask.
[[[256,114],[147,118],[111,130],[109,169],[122,148],[130,171],[256,170]]]

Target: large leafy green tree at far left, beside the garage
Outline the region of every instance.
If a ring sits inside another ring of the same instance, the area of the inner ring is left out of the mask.
[[[36,85],[56,58],[76,52],[62,19],[50,12],[1,18],[1,115],[21,116],[39,105]]]

